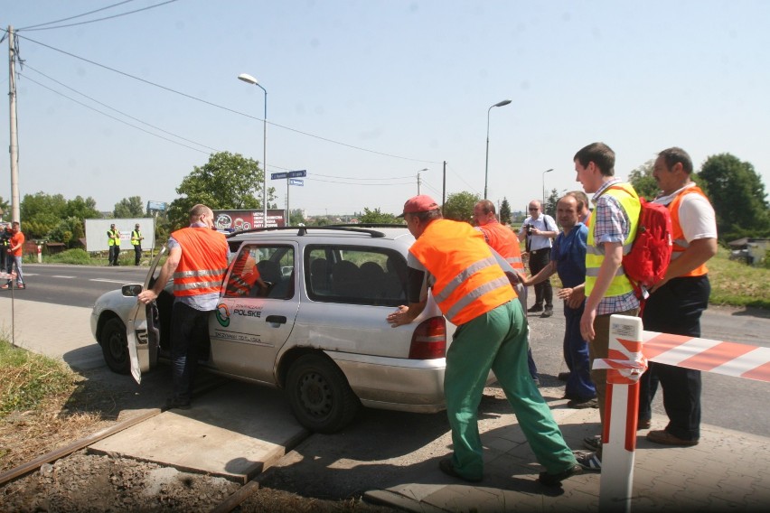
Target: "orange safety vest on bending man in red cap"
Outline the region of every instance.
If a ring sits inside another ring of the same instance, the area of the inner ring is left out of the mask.
[[[516,298],[484,236],[467,223],[437,219],[409,248],[436,279],[433,297],[455,325]]]

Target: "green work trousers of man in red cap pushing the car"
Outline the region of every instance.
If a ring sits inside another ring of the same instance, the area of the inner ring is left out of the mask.
[[[478,406],[490,368],[511,403],[521,431],[549,473],[576,464],[527,368],[527,319],[521,303],[509,301],[458,326],[446,351],[444,393],[452,427],[455,471],[468,479],[484,474]]]

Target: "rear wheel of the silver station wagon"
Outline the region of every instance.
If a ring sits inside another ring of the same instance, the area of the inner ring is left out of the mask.
[[[286,393],[296,419],[316,433],[343,429],[361,407],[343,371],[320,354],[306,354],[292,364]]]

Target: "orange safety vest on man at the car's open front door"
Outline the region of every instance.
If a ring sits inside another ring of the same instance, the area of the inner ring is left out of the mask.
[[[207,228],[183,228],[171,236],[182,246],[174,271],[174,295],[219,293],[227,271],[227,240]]]

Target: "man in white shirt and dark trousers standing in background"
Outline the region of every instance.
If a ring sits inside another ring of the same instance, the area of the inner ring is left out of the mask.
[[[530,201],[530,216],[519,229],[519,241],[527,239],[527,253],[530,255],[530,273],[537,275],[550,261],[551,239],[559,235],[556,221],[542,212],[540,201]],[[545,310],[543,310],[545,302]],[[553,315],[553,289],[550,280],[535,285],[535,304],[527,312],[543,312],[541,317]]]

